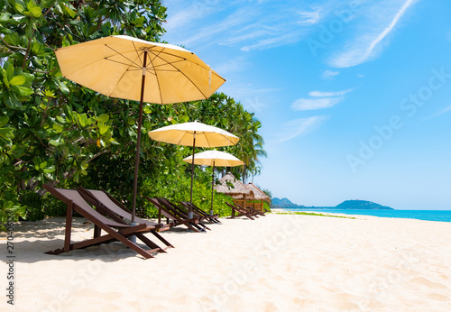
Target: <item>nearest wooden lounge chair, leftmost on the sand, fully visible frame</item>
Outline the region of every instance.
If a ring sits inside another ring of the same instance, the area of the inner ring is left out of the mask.
[[[108,219],[106,216],[99,214],[92,206],[89,206],[89,204],[87,204],[85,199],[81,197],[76,189],[54,188],[48,184],[44,184],[43,188],[67,205],[64,247],[45,253],[60,254],[62,252],[69,252],[71,250],[87,248],[89,246],[115,241],[124,243],[125,246],[129,247],[134,252],[141,254],[145,259],[153,258],[153,252],[165,252],[160,248],[160,246],[144,236],[144,233],[155,231],[154,226],[145,224],[125,225],[124,223],[118,223],[114,220]],[[87,220],[95,225],[94,238],[79,243],[70,243],[72,215],[74,211],[79,215],[86,217]],[[104,230],[107,234],[101,235],[102,230]],[[136,235],[136,237],[138,237],[151,249],[146,251],[136,243],[128,240],[127,237],[132,235]]]

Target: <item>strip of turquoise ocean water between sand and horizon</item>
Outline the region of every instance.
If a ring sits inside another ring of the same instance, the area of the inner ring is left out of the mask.
[[[345,215],[399,217],[428,221],[451,222],[451,210],[373,210],[373,209],[306,209],[288,208],[287,211],[311,211]]]

